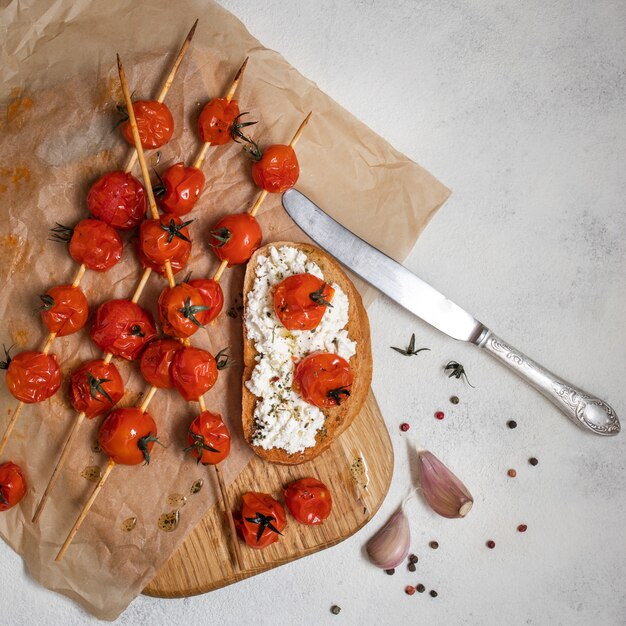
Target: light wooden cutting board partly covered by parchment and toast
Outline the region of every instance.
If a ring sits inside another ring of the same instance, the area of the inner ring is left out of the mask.
[[[369,468],[369,484],[357,501],[350,468],[357,455]],[[282,501],[283,485],[314,476],[330,487],[333,509],[320,526],[298,524],[287,513],[284,537],[263,550],[241,544],[243,571],[235,571],[224,541],[227,532],[219,504],[209,510],[180,548],[161,568],[144,593],[180,598],[206,593],[329,548],[362,528],[382,504],[393,473],[393,448],[374,394],[370,390],[363,410],[350,428],[322,455],[297,466],[273,465],[254,457],[229,486],[239,504],[250,490],[272,494]]]

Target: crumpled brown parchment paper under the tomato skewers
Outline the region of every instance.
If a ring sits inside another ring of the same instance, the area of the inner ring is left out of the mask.
[[[154,97],[173,57],[196,17],[191,50],[167,97],[176,121],[172,141],[161,150],[158,169],[199,149],[195,127],[206,101],[223,95],[245,56],[250,62],[237,94],[241,110],[259,120],[253,135],[263,147],[286,143],[308,111],[313,118],[297,147],[298,188],[366,240],[402,260],[449,192],[420,166],[396,152],[352,117],[280,55],[255,40],[231,14],[212,2],[46,2],[13,0],[2,10],[0,28],[0,341],[16,349],[37,348],[46,333],[37,295],[71,282],[76,264],[64,246],[47,240],[55,222],[74,224],[87,216],[85,195],[105,171],[123,167],[128,147],[117,131],[115,105],[121,103],[115,52],[125,64],[136,97]],[[154,153],[151,157],[155,162]],[[207,231],[221,215],[250,206],[258,191],[240,147],[211,148],[204,166],[206,190],[191,225],[194,276],[212,275],[217,263],[206,245]],[[137,173],[135,169],[135,174]],[[265,240],[304,240],[278,196],[270,196],[259,219]],[[385,228],[380,228],[384,223]],[[140,274],[133,245],[106,274],[87,272],[82,287],[95,307],[112,297],[128,297]],[[241,302],[243,268],[225,273],[224,310]],[[154,311],[164,285],[153,274],[140,304]],[[240,426],[241,319],[222,314],[192,341],[213,352],[231,346],[237,365],[223,372],[207,394],[233,435],[225,462],[227,482],[247,463],[250,452]],[[57,339],[53,352],[64,378],[82,361],[98,355],[87,330]],[[123,406],[135,404],[146,384],[134,363],[116,360],[126,382]],[[94,452],[100,420],[87,421],[40,524],[31,523],[75,417],[66,386],[51,400],[26,406],[1,461],[11,459],[26,472],[30,490],[22,503],[0,514],[0,534],[43,585],[74,598],[91,613],[115,619],[165,563],[185,535],[216,501],[212,468],[184,455],[187,425],[197,405],[173,391],[159,391],[149,412],[165,447],[155,447],[149,466],[116,467],[62,563],[59,546],[94,484],[81,477],[87,466],[104,468]],[[16,401],[0,389],[4,429]],[[190,493],[202,478],[203,489]],[[251,485],[251,487],[253,487]],[[168,496],[187,498],[180,523],[171,533],[157,520],[175,507]],[[123,520],[135,516],[128,533]],[[226,541],[226,536],[216,538]]]

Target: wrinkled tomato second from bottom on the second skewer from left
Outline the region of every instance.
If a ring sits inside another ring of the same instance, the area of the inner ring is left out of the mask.
[[[132,361],[156,338],[152,315],[130,300],[101,304],[91,326],[91,338],[103,351]]]

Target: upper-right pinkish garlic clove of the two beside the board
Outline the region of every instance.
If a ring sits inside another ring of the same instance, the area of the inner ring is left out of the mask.
[[[474,504],[472,494],[432,452],[418,450],[419,481],[430,507],[442,517],[465,517]]]

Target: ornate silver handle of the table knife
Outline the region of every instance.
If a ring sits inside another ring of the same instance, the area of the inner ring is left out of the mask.
[[[573,422],[598,435],[617,435],[620,423],[615,411],[604,400],[574,387],[509,346],[489,329],[476,341],[479,348],[513,370],[555,404]]]

